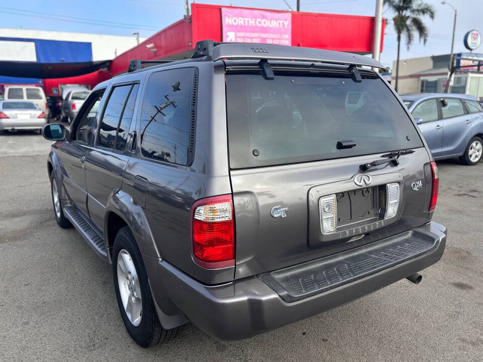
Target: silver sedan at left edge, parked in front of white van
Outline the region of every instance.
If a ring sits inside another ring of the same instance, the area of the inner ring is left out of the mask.
[[[0,134],[17,130],[40,131],[46,124],[44,111],[33,102],[0,101]]]

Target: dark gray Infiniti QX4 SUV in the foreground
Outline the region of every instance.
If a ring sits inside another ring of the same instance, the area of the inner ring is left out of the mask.
[[[203,41],[190,59],[131,61],[68,130],[44,127],[55,219],[112,263],[139,345],[188,321],[247,338],[419,282],[441,258],[438,168],[393,89],[357,65],[382,67]]]

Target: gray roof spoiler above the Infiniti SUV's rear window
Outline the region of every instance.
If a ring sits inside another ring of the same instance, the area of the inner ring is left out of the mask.
[[[213,61],[220,59],[296,60],[386,69],[377,60],[363,55],[272,44],[217,43],[212,40],[202,40],[196,43],[192,58],[202,56],[211,56]]]

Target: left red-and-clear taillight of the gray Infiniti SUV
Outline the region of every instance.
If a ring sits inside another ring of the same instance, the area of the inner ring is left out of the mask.
[[[193,259],[208,269],[235,264],[231,195],[198,200],[191,208]]]

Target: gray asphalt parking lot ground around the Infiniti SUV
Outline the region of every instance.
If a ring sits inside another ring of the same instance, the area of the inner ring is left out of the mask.
[[[251,339],[188,325],[142,349],[118,311],[111,267],[57,226],[38,133],[0,136],[0,360],[479,361],[483,354],[483,163],[438,162],[443,258],[369,296]]]

